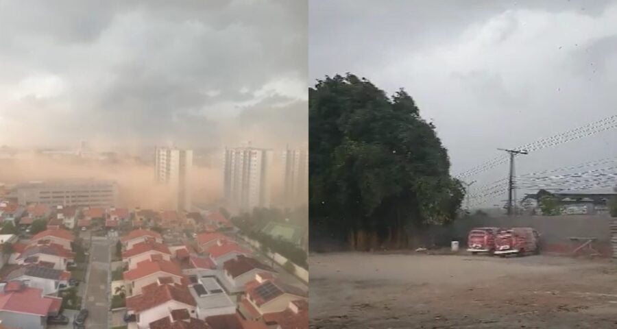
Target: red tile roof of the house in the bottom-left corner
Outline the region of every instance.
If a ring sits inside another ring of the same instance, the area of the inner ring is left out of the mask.
[[[54,297],[43,297],[42,289],[24,287],[18,291],[0,291],[0,310],[45,317],[53,313],[57,300]]]

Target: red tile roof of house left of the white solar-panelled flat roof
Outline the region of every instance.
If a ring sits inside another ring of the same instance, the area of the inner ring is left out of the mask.
[[[141,295],[135,295],[126,298],[126,308],[133,310],[136,313],[140,313],[144,310],[169,302],[170,300],[176,300],[189,306],[195,306],[195,300],[189,292],[189,288],[180,285],[154,285],[143,289]]]

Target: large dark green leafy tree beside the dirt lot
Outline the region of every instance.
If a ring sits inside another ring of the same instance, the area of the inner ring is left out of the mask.
[[[365,249],[455,219],[464,189],[413,99],[352,74],[309,89],[311,222]]]

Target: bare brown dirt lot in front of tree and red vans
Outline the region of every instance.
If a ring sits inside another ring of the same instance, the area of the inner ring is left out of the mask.
[[[314,254],[311,328],[617,328],[617,264]]]

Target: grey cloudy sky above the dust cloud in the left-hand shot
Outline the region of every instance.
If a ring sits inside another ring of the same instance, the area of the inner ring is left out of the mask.
[[[0,144],[306,143],[307,4],[0,0]]]

